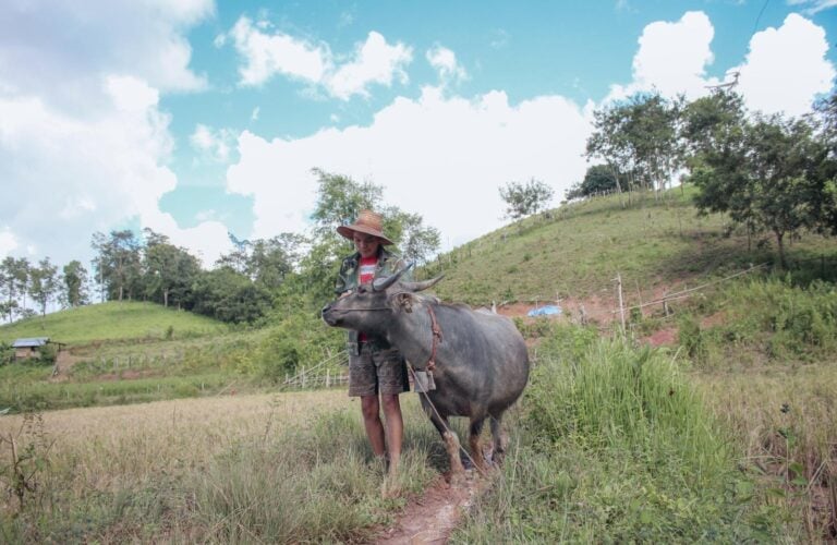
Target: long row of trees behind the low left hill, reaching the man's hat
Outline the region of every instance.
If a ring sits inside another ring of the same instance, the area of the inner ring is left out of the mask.
[[[239,240],[210,269],[186,249],[151,229],[96,232],[92,270],[72,261],[61,271],[49,257],[0,263],[0,315],[8,322],[92,301],[149,301],[228,323],[256,323],[271,310],[315,307],[332,295],[338,261],[353,252],[336,227],[373,208],[385,217],[385,231],[408,261],[423,263],[439,247],[439,232],[417,214],[383,202],[383,186],[314,170],[317,203],[310,232]]]

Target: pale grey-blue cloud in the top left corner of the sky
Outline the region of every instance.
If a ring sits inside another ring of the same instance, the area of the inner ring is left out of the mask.
[[[182,32],[214,13],[211,0],[3,2],[0,74],[9,95],[39,96],[51,107],[93,113],[106,100],[100,82],[130,73],[157,89],[206,86],[189,68]]]

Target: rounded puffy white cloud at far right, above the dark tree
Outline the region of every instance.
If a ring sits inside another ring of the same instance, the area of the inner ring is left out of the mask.
[[[837,75],[827,52],[825,31],[791,13],[779,28],[752,37],[744,63],[735,69],[740,72],[737,90],[751,109],[805,113],[817,94],[830,90]]]

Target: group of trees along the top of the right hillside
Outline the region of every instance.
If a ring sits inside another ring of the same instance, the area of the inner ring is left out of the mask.
[[[724,88],[691,102],[636,94],[594,112],[587,169],[566,198],[700,189],[702,213],[727,213],[750,235],[776,241],[802,229],[837,233],[837,93],[801,118],[750,112]]]

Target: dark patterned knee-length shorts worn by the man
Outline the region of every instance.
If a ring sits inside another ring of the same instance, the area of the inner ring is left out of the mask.
[[[360,355],[349,355],[349,396],[398,395],[410,391],[407,362],[401,353],[388,348],[361,344]]]

